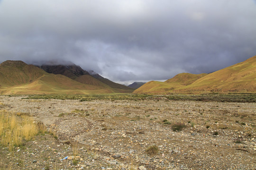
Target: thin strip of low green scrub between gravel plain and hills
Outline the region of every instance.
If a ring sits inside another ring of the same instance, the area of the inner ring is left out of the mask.
[[[87,95],[29,95],[23,99],[60,99],[79,100],[80,102],[93,100],[174,100],[174,101],[201,101],[201,102],[256,102],[256,94],[204,94],[204,95],[168,95],[154,96],[147,94],[87,94]]]

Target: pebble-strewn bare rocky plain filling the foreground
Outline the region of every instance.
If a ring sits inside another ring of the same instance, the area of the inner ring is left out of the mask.
[[[2,169],[256,169],[256,103],[23,97],[0,96],[0,110],[30,113],[49,133],[1,147]]]

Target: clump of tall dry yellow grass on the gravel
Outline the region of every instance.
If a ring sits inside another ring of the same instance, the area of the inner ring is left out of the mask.
[[[27,115],[16,117],[5,110],[0,111],[0,144],[10,151],[24,140],[31,140],[38,133],[34,120]]]

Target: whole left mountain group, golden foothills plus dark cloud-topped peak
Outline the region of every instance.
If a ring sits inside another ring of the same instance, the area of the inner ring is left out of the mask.
[[[132,93],[134,90],[98,76],[115,88],[76,65],[39,68],[23,61],[7,60],[0,64],[0,94],[99,94]]]

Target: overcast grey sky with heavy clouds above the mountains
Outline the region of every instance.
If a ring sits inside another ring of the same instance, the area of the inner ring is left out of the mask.
[[[256,55],[256,0],[0,0],[0,62],[71,61],[118,83]]]

